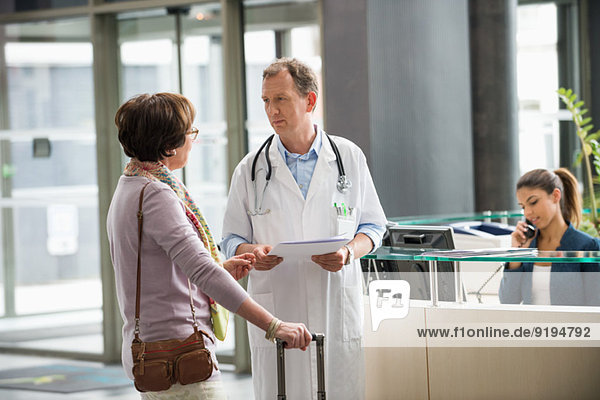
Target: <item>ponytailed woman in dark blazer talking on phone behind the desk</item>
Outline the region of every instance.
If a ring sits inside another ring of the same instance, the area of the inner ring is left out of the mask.
[[[565,168],[535,169],[517,182],[517,200],[526,221],[511,235],[513,247],[544,251],[597,251],[599,241],[577,230],[581,196],[577,179]],[[528,235],[528,222],[535,232]],[[597,263],[506,263],[500,302],[509,304],[600,305]]]

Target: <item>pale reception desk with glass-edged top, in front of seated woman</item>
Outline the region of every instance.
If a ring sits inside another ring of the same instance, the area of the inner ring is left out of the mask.
[[[382,247],[364,257],[373,267],[365,272],[366,284],[378,278],[374,269],[378,260],[426,262],[433,272],[431,298],[411,300],[406,317],[385,319],[376,330],[365,293],[368,399],[600,397],[600,307],[486,304],[467,300],[462,289],[462,270],[469,263],[598,263],[600,252],[534,251],[470,257],[423,253]],[[436,294],[436,265],[440,262],[455,265],[455,301],[440,301]],[[500,337],[504,329],[512,336]],[[535,332],[524,337],[524,329]],[[435,332],[448,336],[432,337]],[[478,332],[482,336],[477,337]],[[469,333],[473,336],[468,337]],[[499,337],[493,337],[494,333]]]

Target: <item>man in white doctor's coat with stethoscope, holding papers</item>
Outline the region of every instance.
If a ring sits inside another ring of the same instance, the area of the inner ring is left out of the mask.
[[[262,100],[276,135],[265,150],[248,154],[233,173],[221,248],[227,257],[256,255],[248,281],[254,300],[286,321],[303,322],[312,332],[325,334],[327,398],[363,399],[358,259],[381,244],[386,218],[362,151],[313,124],[317,94],[314,72],[296,59],[279,59],[264,70]],[[338,162],[350,180],[345,190],[337,185],[342,175]],[[335,253],[308,254],[305,259],[267,255],[282,241],[340,234],[352,240]],[[274,399],[276,346],[254,326],[248,331],[255,398]],[[290,400],[316,399],[316,368],[315,346],[287,352]]]

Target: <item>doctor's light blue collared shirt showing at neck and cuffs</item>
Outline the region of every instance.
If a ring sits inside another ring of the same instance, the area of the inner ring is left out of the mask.
[[[298,184],[298,188],[300,189],[304,199],[306,199],[310,181],[312,179],[313,172],[315,171],[317,160],[319,158],[319,152],[321,151],[323,144],[323,131],[316,125],[315,131],[317,132],[317,135],[315,136],[315,140],[313,140],[313,143],[306,154],[290,153],[281,142],[279,135],[275,135],[274,138],[277,143],[277,150],[279,150],[281,158],[285,160],[285,163],[292,173],[294,180]],[[360,224],[358,225],[356,233],[364,233],[367,235],[374,244],[373,249],[376,249],[381,246],[381,239],[385,233],[385,226],[379,226],[370,223]],[[238,246],[242,243],[249,242],[245,238],[232,233],[223,238],[223,241],[221,242],[221,251],[223,254],[225,254],[225,257],[233,257]]]

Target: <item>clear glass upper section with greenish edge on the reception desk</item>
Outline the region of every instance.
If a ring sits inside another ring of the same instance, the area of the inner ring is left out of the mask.
[[[481,255],[484,251],[492,254]],[[477,255],[465,256],[469,252]],[[497,254],[493,254],[494,252]],[[506,275],[504,262],[508,261],[534,263],[535,273],[530,269],[511,272],[501,293],[501,282]],[[374,280],[404,280],[410,285],[411,300],[428,300],[432,301],[432,305],[437,305],[438,301],[457,302],[457,299],[460,303],[514,304],[517,307],[519,303],[600,305],[600,271],[596,264],[600,263],[600,251],[432,251],[384,246],[363,257],[361,262],[366,293],[368,285]],[[562,265],[553,267],[553,264]],[[589,267],[584,267],[586,264]],[[434,265],[437,274],[432,283],[430,269]],[[459,282],[460,286],[457,285]],[[536,286],[535,290],[532,289],[532,282],[537,282],[533,284]],[[541,296],[540,288],[541,292],[545,292]],[[436,297],[432,299],[431,293],[437,294]]]

